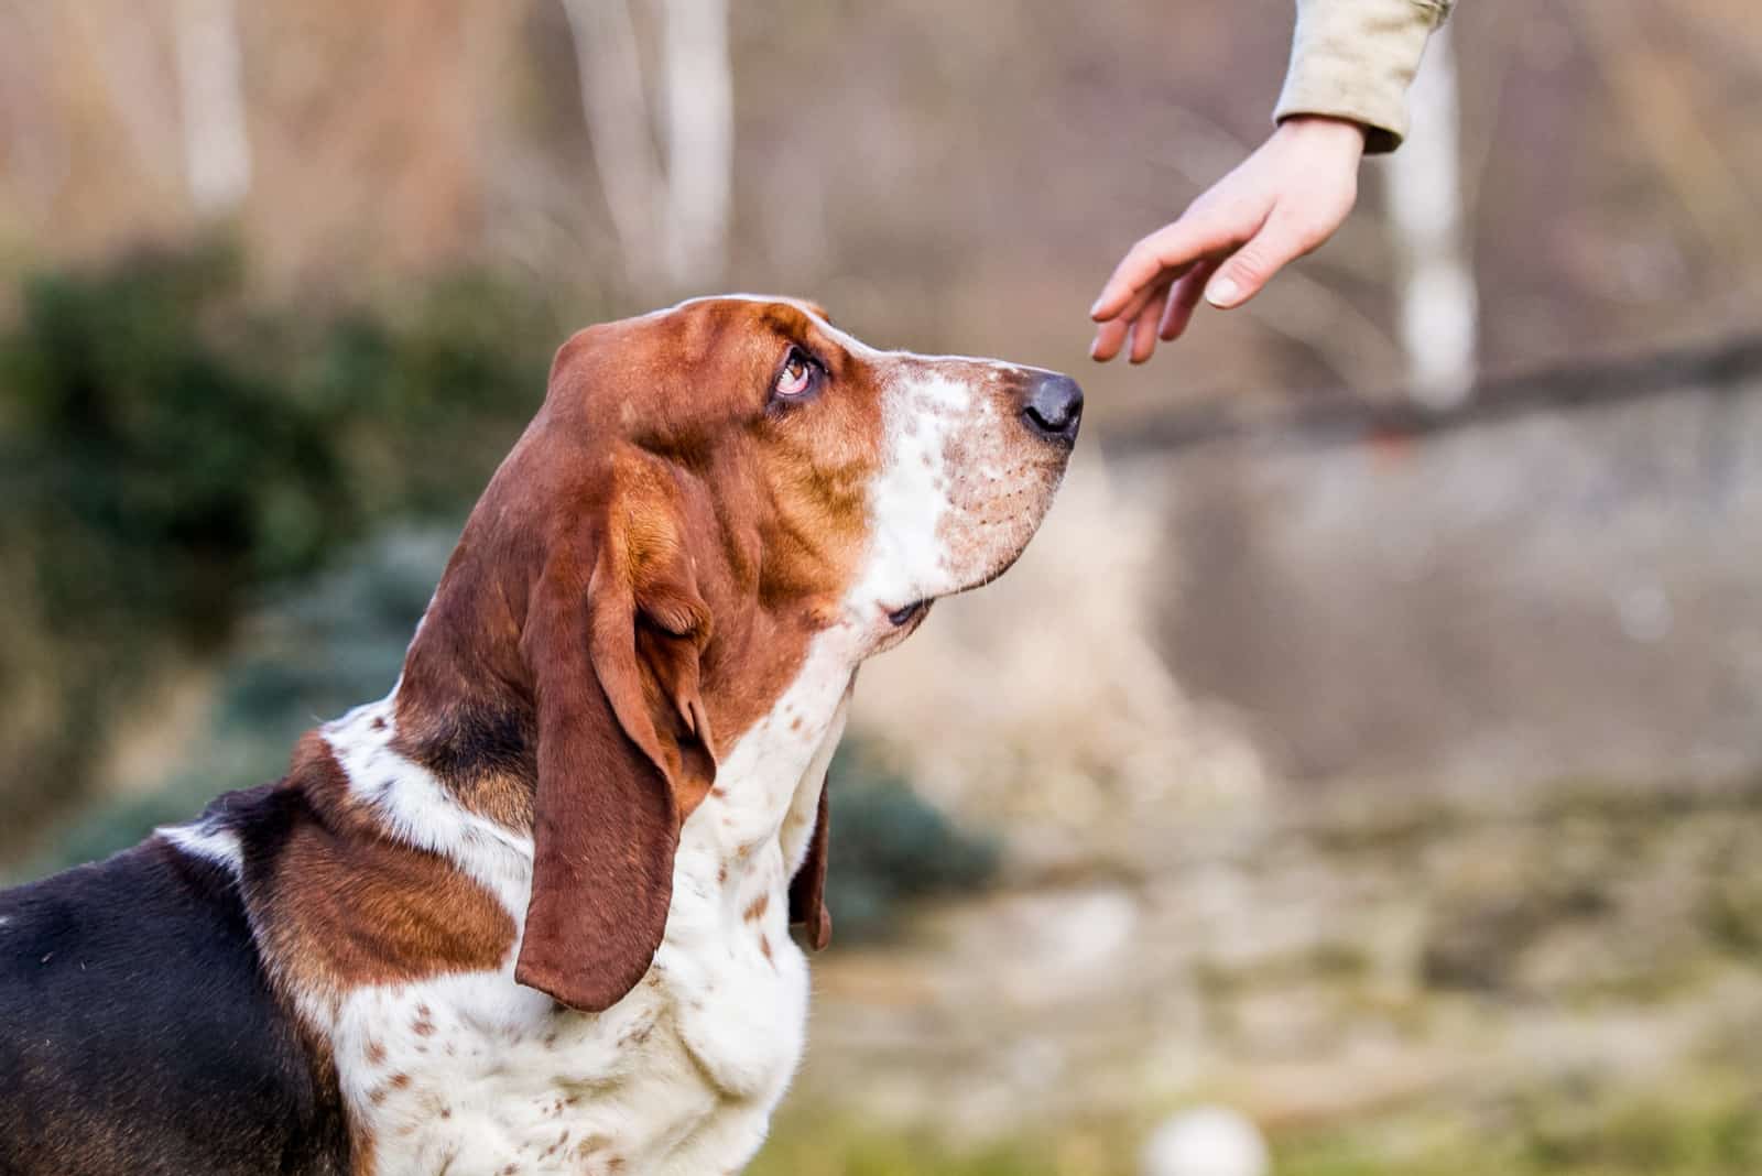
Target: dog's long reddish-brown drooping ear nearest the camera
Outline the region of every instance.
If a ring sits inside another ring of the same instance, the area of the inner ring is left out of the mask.
[[[515,981],[589,1012],[654,961],[680,822],[715,780],[698,685],[710,616],[689,553],[671,512],[611,514],[590,574],[574,553],[550,560],[522,636],[537,797]]]

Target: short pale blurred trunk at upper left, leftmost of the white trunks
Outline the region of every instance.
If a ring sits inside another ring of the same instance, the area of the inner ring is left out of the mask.
[[[203,217],[224,217],[250,192],[250,137],[234,0],[178,0],[183,167]]]

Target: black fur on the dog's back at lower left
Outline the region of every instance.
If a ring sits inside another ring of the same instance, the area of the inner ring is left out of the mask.
[[[271,991],[234,792],[107,861],[0,893],[0,1171],[338,1172],[328,1060]]]

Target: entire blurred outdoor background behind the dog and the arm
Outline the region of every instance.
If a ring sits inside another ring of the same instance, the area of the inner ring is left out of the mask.
[[[1325,250],[1089,364],[1290,30],[0,2],[0,877],[381,697],[571,329],[802,294],[1089,428],[863,673],[756,1171],[1762,1171],[1762,16],[1462,0]]]

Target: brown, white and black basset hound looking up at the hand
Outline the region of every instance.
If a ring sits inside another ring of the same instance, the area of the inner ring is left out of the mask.
[[[386,699],[0,893],[0,1172],[744,1167],[856,667],[1010,567],[1080,414],[803,301],[574,334]]]

